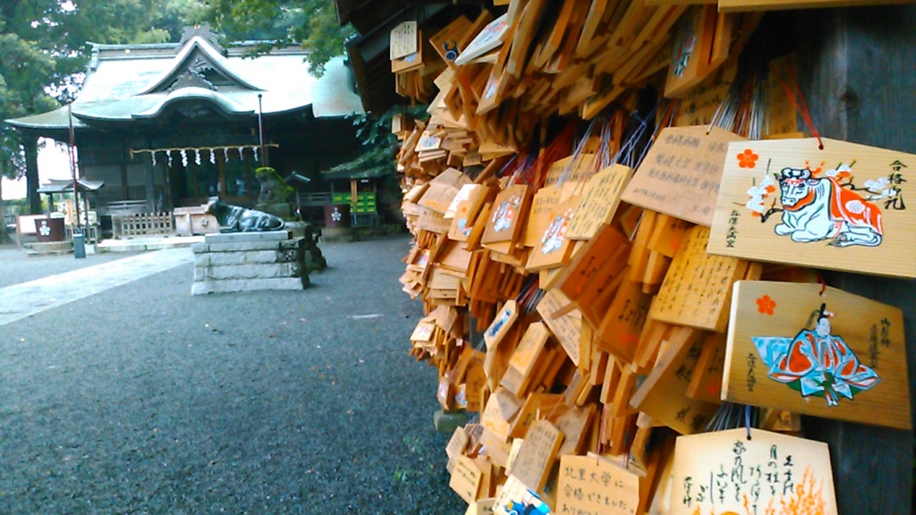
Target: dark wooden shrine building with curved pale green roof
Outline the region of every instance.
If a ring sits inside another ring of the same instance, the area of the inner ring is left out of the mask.
[[[6,120],[23,136],[32,209],[40,206],[38,137],[68,143],[71,123],[80,178],[104,181],[92,206],[100,215],[124,205],[169,212],[214,196],[251,206],[255,169],[265,165],[321,191],[319,172],[358,147],[346,119],[363,112],[353,72],[338,57],[315,77],[300,47],[252,57],[259,44],[224,49],[194,29],[179,43],[93,44],[70,107]]]

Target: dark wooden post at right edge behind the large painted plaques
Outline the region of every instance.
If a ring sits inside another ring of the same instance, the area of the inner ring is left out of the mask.
[[[795,22],[799,82],[821,134],[916,154],[916,5],[799,11]],[[907,209],[916,210],[916,162],[906,164]],[[916,400],[916,280],[846,273],[825,279],[903,310]],[[813,418],[804,427],[830,445],[841,515],[912,512],[912,432]]]

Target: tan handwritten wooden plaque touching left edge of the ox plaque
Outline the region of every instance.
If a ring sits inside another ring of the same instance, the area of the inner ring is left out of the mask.
[[[667,127],[627,184],[623,200],[700,225],[712,225],[722,163],[745,138],[707,126]]]

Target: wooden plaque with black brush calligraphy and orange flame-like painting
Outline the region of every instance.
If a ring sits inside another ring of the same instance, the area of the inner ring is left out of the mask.
[[[671,476],[670,515],[836,515],[821,442],[747,428],[679,436]]]

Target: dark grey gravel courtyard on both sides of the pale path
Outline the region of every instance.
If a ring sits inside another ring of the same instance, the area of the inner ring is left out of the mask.
[[[0,513],[463,513],[409,241],[322,243],[308,290],[191,297],[188,265],[0,327]]]

